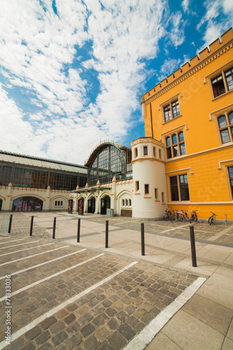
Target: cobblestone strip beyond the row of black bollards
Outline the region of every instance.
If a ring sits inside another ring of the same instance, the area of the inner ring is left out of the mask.
[[[38,213],[40,215],[41,213]],[[43,213],[42,213],[43,215]],[[0,232],[1,225],[3,223],[3,213],[0,213]],[[5,214],[5,216],[10,216],[10,214]],[[54,216],[59,218],[69,217],[70,219],[78,218],[77,214],[71,216],[70,214],[54,213]],[[36,213],[34,213],[36,218]],[[85,215],[85,218],[87,216]],[[125,218],[122,216],[108,218],[107,216],[96,215],[90,218],[91,221],[97,223],[105,223],[108,220],[109,225],[117,225],[120,228],[129,228],[133,230],[140,230],[141,223],[144,223],[145,232],[155,232],[157,234],[169,235],[174,237],[190,237],[190,228],[188,221],[181,223],[179,221],[140,221],[134,218]],[[12,223],[12,233],[17,233],[17,235],[27,236],[30,231],[30,221],[31,214],[27,213],[13,213],[13,223]],[[216,225],[209,225],[205,221],[197,221],[197,223],[192,223],[195,228],[195,238],[204,241],[216,241],[223,244],[233,245],[233,225],[228,223],[216,223]],[[183,226],[183,227],[182,227]],[[49,232],[50,230],[50,232]],[[48,221],[48,227],[42,228],[40,225],[34,223],[34,235],[40,238],[49,238],[52,235],[52,221]]]

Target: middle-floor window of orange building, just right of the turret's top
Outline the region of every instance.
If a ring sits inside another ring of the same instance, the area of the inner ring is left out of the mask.
[[[167,159],[186,154],[183,132],[176,132],[166,138]]]

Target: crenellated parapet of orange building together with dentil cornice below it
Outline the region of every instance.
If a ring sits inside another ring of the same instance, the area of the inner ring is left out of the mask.
[[[176,69],[167,78],[155,85],[146,94],[141,95],[141,104],[148,104],[153,99],[164,94],[178,83],[187,79],[192,74],[202,69],[206,64],[210,64],[214,59],[218,58],[223,53],[233,47],[233,30],[232,28],[225,31],[221,38],[216,39],[209,45],[209,48],[204,48],[199,55],[192,57],[189,62],[186,62],[180,68]]]

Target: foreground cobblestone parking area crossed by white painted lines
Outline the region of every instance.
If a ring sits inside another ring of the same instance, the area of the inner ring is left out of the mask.
[[[37,238],[0,236],[0,349],[122,349],[197,279]]]

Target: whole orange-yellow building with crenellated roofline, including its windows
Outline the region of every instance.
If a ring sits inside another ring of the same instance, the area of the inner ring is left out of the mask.
[[[233,220],[233,32],[141,96],[146,137],[164,144],[167,206]]]

